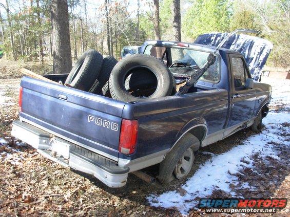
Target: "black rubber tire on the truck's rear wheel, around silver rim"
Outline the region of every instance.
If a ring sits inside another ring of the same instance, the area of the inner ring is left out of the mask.
[[[158,180],[162,184],[167,184],[175,179],[173,170],[175,170],[175,167],[183,153],[192,146],[199,147],[200,141],[190,133],[185,134],[165,156],[164,160],[160,163],[159,166]]]

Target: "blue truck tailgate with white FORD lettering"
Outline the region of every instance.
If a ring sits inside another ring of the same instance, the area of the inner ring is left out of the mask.
[[[29,77],[21,86],[21,120],[118,160],[124,102]]]

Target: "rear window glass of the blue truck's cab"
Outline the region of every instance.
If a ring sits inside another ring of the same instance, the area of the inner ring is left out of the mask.
[[[156,56],[160,59],[163,59],[164,64],[169,66],[167,63],[166,49],[170,49],[171,53],[171,63],[181,62],[184,66],[198,69],[203,66],[203,64],[207,61],[208,52],[199,51],[199,50],[191,50],[187,48],[166,48],[166,47],[156,47],[152,45],[148,45],[144,51],[144,54],[150,54],[152,56]],[[184,67],[183,66],[183,67]],[[176,72],[176,70],[175,70]],[[180,76],[188,77],[189,74],[182,74],[184,70],[180,70]],[[191,73],[190,73],[191,74]],[[217,56],[217,60],[214,64],[212,64],[209,69],[203,74],[200,80],[218,83],[220,81],[220,59]]]

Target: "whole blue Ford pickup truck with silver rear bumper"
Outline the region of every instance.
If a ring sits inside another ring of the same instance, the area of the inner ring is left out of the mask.
[[[186,63],[201,66],[215,50],[170,41],[144,45],[142,53],[167,66],[182,58],[184,66],[171,71],[177,83],[190,76]],[[200,147],[246,127],[257,130],[268,112],[271,86],[252,81],[244,57],[221,48],[216,58],[188,93],[136,102],[23,77],[20,120],[13,122],[12,135],[109,187],[122,187],[129,172],[159,163],[162,183],[183,179]],[[64,82],[68,75],[44,76]]]

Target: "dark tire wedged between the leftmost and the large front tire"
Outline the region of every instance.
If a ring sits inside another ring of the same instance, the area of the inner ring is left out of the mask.
[[[93,85],[91,86],[89,92],[103,95],[102,88],[105,85],[105,83],[109,80],[111,71],[113,70],[117,62],[118,62],[117,59],[115,59],[113,56],[107,56],[104,58],[102,70],[98,78],[96,78]]]

